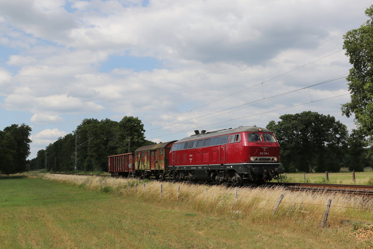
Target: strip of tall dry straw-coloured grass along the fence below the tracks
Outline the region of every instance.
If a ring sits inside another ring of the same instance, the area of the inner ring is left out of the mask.
[[[81,188],[116,194],[150,202],[173,202],[188,205],[191,212],[229,215],[232,219],[250,218],[270,222],[306,222],[321,224],[326,202],[332,199],[327,224],[338,227],[341,221],[373,222],[373,200],[368,197],[340,193],[291,192],[282,187],[272,189],[241,187],[235,198],[235,188],[200,184],[142,181],[133,178],[95,177],[83,175],[37,174],[38,177],[75,184]],[[145,186],[144,186],[145,184]],[[160,186],[162,184],[162,194]],[[129,188],[128,188],[129,186]],[[179,188],[179,191],[178,191]],[[273,208],[280,194],[284,197],[275,214]]]

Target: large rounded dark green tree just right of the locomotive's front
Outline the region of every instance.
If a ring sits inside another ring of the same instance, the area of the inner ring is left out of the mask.
[[[339,171],[347,148],[348,131],[333,116],[306,111],[285,114],[277,124],[270,121],[280,144],[280,156],[285,171]]]

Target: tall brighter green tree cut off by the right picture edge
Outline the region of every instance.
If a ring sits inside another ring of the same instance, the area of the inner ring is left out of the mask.
[[[366,9],[365,14],[370,19],[343,37],[343,48],[350,57],[352,68],[347,77],[351,102],[342,105],[342,113],[347,117],[355,113],[359,130],[373,138],[373,5]],[[373,158],[373,139],[369,145]]]

